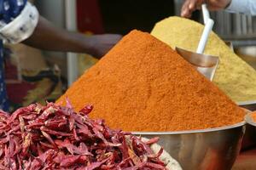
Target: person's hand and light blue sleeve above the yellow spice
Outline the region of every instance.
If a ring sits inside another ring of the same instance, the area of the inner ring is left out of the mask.
[[[212,11],[224,9],[231,13],[256,15],[256,0],[186,0],[181,16],[190,18],[196,9],[201,9],[202,3],[207,3],[207,8]]]

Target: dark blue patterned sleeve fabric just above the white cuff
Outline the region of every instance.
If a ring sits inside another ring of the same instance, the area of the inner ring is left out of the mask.
[[[0,22],[8,24],[25,7],[27,0],[0,0]]]

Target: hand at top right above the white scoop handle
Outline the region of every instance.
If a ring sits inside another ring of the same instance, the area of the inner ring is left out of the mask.
[[[207,3],[209,10],[219,10],[229,6],[231,0],[186,0],[183,3],[181,16],[190,18],[196,9],[201,9],[202,3]]]

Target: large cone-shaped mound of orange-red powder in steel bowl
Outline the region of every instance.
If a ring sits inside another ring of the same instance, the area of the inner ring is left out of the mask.
[[[85,71],[61,99],[92,118],[126,131],[177,131],[222,127],[244,111],[176,51],[148,33],[131,31]]]

